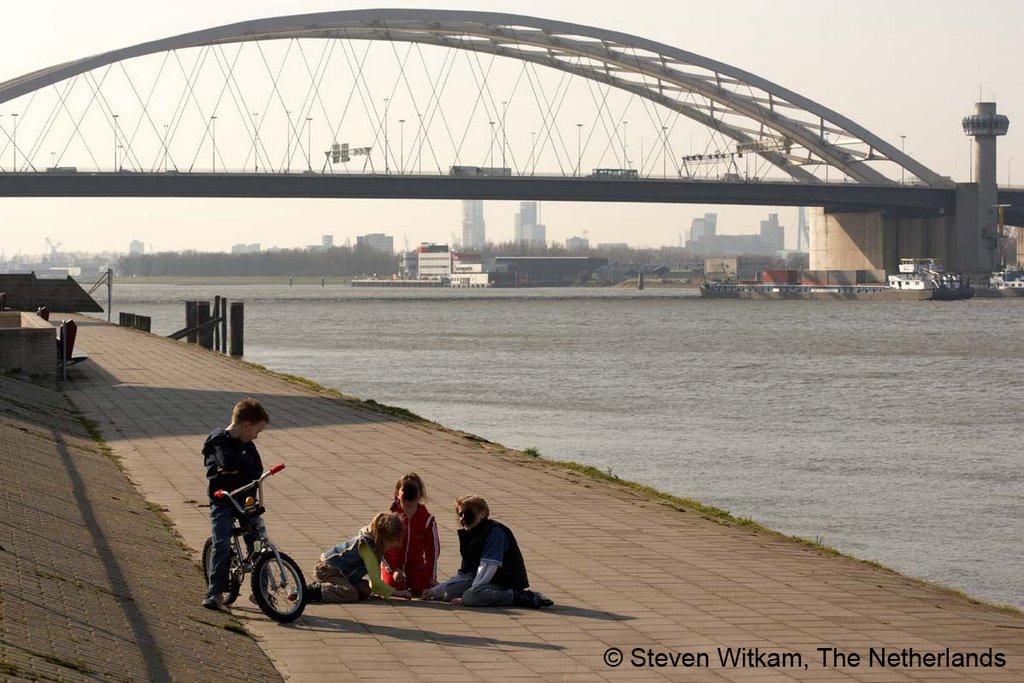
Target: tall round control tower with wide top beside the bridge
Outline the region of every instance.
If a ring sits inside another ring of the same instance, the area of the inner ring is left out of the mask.
[[[995,137],[1006,135],[1010,119],[995,113],[995,102],[977,102],[975,114],[964,117],[964,132],[974,136],[974,181],[978,184],[978,268],[994,270],[998,261],[995,186]]]

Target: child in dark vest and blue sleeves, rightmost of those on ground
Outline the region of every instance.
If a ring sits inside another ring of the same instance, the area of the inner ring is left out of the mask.
[[[519,544],[508,526],[490,519],[478,496],[456,499],[462,565],[443,584],[423,592],[424,600],[444,600],[467,607],[550,607],[543,593],[527,590],[529,579]]]

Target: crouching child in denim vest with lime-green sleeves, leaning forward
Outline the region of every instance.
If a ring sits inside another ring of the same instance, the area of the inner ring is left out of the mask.
[[[306,586],[310,602],[356,602],[371,595],[409,598],[381,581],[384,553],[401,543],[401,517],[382,512],[348,541],[326,551],[316,561],[316,584]]]

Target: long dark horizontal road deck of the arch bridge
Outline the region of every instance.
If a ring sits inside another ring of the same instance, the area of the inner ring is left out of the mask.
[[[956,191],[916,185],[356,173],[7,173],[0,197],[466,199],[820,206],[839,211],[953,213]],[[1013,203],[1000,195],[1000,202]]]

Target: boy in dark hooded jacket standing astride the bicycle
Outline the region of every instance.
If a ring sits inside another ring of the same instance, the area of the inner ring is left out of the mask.
[[[263,462],[254,441],[269,422],[270,417],[258,400],[243,398],[231,411],[231,423],[210,432],[203,443],[213,536],[209,590],[203,598],[203,606],[207,609],[219,609],[221,593],[228,590],[231,526],[239,514],[230,501],[216,499],[213,494],[220,489],[234,490],[263,473]]]

